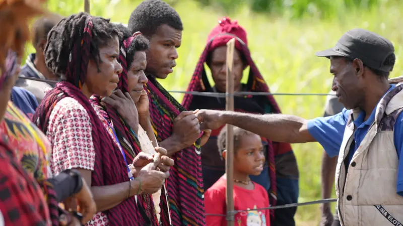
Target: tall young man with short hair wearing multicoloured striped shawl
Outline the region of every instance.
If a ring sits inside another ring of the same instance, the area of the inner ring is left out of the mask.
[[[146,0],[131,13],[128,28],[132,34],[141,32],[150,41],[145,70],[149,82],[145,89],[159,146],[175,161],[167,179],[172,224],[205,225],[200,145],[206,143],[210,133],[205,132],[199,139],[201,131],[194,112],[186,111],[156,80],[165,79],[176,66],[182,21],[167,3]]]

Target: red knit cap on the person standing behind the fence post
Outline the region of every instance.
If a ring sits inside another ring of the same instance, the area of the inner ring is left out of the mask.
[[[236,38],[235,48],[239,51],[242,51],[242,45],[248,46],[245,29],[237,21],[231,21],[228,17],[224,17],[218,21],[218,25],[207,37],[207,43],[211,42],[209,52],[220,46],[225,46],[233,38]]]

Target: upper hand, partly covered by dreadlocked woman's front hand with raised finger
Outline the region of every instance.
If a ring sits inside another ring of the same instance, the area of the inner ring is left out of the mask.
[[[169,158],[167,156],[167,150],[165,150],[165,148],[161,148],[161,147],[156,147],[154,148],[154,150],[157,153],[161,154],[161,161],[160,164],[158,164],[157,166],[157,170],[162,171],[162,172],[169,172],[169,168],[171,166],[173,166],[174,161],[173,159]],[[156,153],[156,154],[157,154]],[[135,159],[133,159],[133,163],[130,164],[129,169],[131,171],[131,174],[134,177],[138,176],[138,173],[140,172],[140,170],[145,167],[146,165],[154,162],[154,157],[155,155],[151,155],[145,152],[140,152]]]

